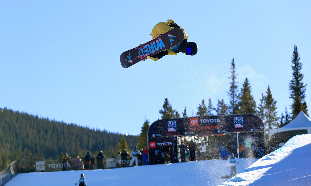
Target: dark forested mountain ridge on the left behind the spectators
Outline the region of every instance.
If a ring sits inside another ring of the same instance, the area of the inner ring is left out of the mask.
[[[137,135],[100,131],[0,108],[0,169],[19,157],[54,159],[62,152],[84,157],[86,152],[93,156],[101,150],[105,156],[115,156],[123,137],[129,148],[137,145]]]

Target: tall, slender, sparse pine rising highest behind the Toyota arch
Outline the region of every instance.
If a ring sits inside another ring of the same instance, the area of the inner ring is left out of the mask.
[[[229,104],[229,113],[230,114],[237,114],[238,110],[238,86],[236,85],[238,82],[236,82],[236,76],[238,75],[235,71],[235,64],[234,64],[234,58],[232,58],[231,68],[230,68],[231,76],[228,77],[231,79],[230,82],[230,89],[229,92],[227,91],[229,97],[230,97],[230,104]]]

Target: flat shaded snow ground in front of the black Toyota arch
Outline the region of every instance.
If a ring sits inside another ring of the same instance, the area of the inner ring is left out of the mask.
[[[237,173],[242,172],[258,159],[240,158]],[[172,163],[104,170],[76,170],[43,173],[23,173],[14,177],[5,186],[74,186],[81,173],[87,186],[99,185],[211,185],[215,186],[230,175],[225,160]]]

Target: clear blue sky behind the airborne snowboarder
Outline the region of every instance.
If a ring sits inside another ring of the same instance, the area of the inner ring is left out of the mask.
[[[202,99],[229,102],[230,62],[259,102],[270,85],[288,108],[294,45],[311,110],[310,1],[1,1],[0,107],[67,123],[139,134],[164,98],[188,115]],[[173,19],[195,56],[178,54],[123,69],[119,56]]]

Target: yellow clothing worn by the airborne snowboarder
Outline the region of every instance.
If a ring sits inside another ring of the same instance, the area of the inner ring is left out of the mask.
[[[164,34],[165,32],[169,31],[170,29],[173,29],[172,27],[169,26],[169,23],[173,23],[173,20],[167,20],[167,23],[165,22],[160,22],[158,24],[156,24],[155,27],[153,27],[152,31],[151,31],[151,37],[152,39],[155,39],[156,37],[158,37],[160,34]],[[183,28],[181,28],[183,29]],[[188,39],[188,35],[186,34],[186,32],[183,30],[183,33],[185,34],[185,38],[184,39]],[[177,55],[175,52],[173,52],[171,49],[167,49],[167,51],[169,52],[168,55]],[[159,60],[158,58],[152,58],[150,56],[147,56],[147,59],[152,59],[154,61]]]

